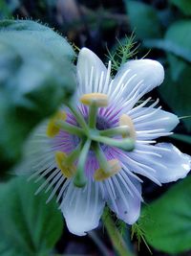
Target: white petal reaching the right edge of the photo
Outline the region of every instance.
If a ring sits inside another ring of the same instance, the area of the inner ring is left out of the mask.
[[[139,144],[137,149],[138,151],[128,152],[135,163],[135,168],[131,170],[156,183],[176,181],[190,171],[191,157],[170,143],[158,143],[155,146]],[[141,167],[139,172],[136,165]]]

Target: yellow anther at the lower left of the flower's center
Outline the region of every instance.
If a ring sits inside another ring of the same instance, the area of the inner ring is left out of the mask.
[[[74,164],[68,165],[67,164],[67,154],[62,151],[56,151],[55,152],[55,162],[57,164],[57,167],[61,170],[62,174],[66,177],[72,177],[75,173],[75,166]]]

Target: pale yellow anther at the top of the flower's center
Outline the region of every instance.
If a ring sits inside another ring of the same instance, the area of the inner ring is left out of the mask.
[[[83,105],[92,105],[94,103],[97,107],[103,107],[108,105],[108,96],[103,93],[84,94],[80,98],[80,102]]]

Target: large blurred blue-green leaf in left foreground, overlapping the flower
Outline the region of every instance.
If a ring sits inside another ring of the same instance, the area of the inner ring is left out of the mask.
[[[31,20],[0,21],[1,172],[23,142],[74,91],[74,51],[62,36]]]

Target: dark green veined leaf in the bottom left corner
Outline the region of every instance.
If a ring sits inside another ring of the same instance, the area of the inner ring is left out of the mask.
[[[0,184],[0,255],[48,255],[62,232],[57,204],[48,195],[34,196],[39,185],[26,177]]]

